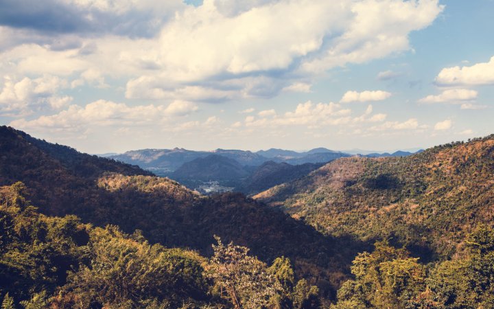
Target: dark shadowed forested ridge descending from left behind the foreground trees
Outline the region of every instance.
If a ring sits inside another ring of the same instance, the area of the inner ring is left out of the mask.
[[[268,205],[242,194],[200,196],[176,181],[149,176],[137,167],[48,144],[1,128],[0,185],[25,183],[42,214],[75,214],[82,222],[136,229],[152,243],[211,254],[213,235],[250,248],[261,260],[284,255],[296,278],[317,284],[323,297],[349,274],[366,244],[328,238]]]

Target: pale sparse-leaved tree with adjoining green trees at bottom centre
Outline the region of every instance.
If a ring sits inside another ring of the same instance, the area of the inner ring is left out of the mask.
[[[287,258],[277,258],[268,267],[248,255],[248,248],[224,245],[219,237],[213,245],[209,277],[221,297],[233,308],[319,308],[319,290],[305,279],[294,286],[294,271]]]

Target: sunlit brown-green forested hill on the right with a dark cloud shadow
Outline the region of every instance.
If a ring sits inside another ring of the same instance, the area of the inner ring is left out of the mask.
[[[410,157],[338,159],[255,198],[322,233],[451,258],[466,233],[494,223],[494,135]]]

